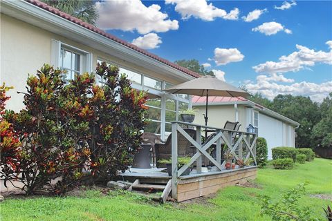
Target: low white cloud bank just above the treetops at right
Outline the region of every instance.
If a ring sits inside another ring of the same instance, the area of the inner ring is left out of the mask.
[[[280,77],[279,80],[277,79],[278,76]],[[332,81],[326,81],[322,84],[315,84],[306,81],[293,83],[293,79],[291,79],[291,81],[289,79],[287,80],[282,75],[275,75],[275,77],[259,75],[256,80],[256,84],[251,82],[246,84],[246,88],[250,93],[261,93],[261,95],[267,97],[268,99],[273,99],[279,94],[291,94],[294,96],[310,96],[313,101],[322,102],[322,99],[332,92]],[[287,82],[288,84],[277,84],[278,81]]]

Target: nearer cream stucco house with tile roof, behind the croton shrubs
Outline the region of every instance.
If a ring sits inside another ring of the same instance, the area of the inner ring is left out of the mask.
[[[17,91],[26,91],[28,73],[36,73],[43,64],[67,70],[67,79],[71,79],[75,73],[92,72],[98,61],[119,66],[133,88],[148,90],[151,121],[145,131],[164,140],[171,131],[170,122],[178,119],[178,111],[190,107],[190,97],[162,90],[199,77],[197,73],[45,3],[1,1],[0,81],[15,88],[8,93],[12,98],[7,108],[19,111],[24,107],[23,95]]]

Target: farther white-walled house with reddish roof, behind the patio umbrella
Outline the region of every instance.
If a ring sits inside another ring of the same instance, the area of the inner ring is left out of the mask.
[[[192,106],[198,113],[194,123],[204,124],[206,97],[194,96]],[[223,127],[226,121],[239,122],[239,131],[246,131],[249,124],[257,128],[258,136],[268,143],[268,159],[272,159],[272,148],[295,147],[295,128],[299,123],[271,111],[243,97],[209,97],[209,126]]]

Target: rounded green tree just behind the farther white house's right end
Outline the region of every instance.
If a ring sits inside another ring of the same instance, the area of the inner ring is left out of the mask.
[[[312,102],[310,97],[277,95],[273,99],[271,109],[301,124],[296,129],[297,147],[312,147],[314,145],[311,131],[313,126],[320,121],[320,108],[317,102]]]

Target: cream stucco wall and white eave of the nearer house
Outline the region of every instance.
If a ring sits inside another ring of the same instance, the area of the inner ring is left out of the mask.
[[[24,95],[17,94],[17,91],[26,92],[28,74],[34,75],[36,70],[39,70],[43,64],[51,63],[52,39],[92,53],[93,70],[97,64],[97,59],[104,59],[137,73],[144,73],[148,77],[165,80],[174,85],[183,82],[180,78],[161,75],[150,68],[146,68],[146,64],[138,66],[124,59],[119,59],[111,50],[107,54],[84,44],[79,44],[75,40],[73,41],[75,36],[73,36],[73,39],[67,39],[24,21],[1,14],[0,84],[2,85],[2,82],[5,82],[7,86],[14,87],[13,90],[8,92],[8,95],[12,98],[7,102],[6,108],[13,111],[19,111],[21,108],[24,108],[22,103]]]

